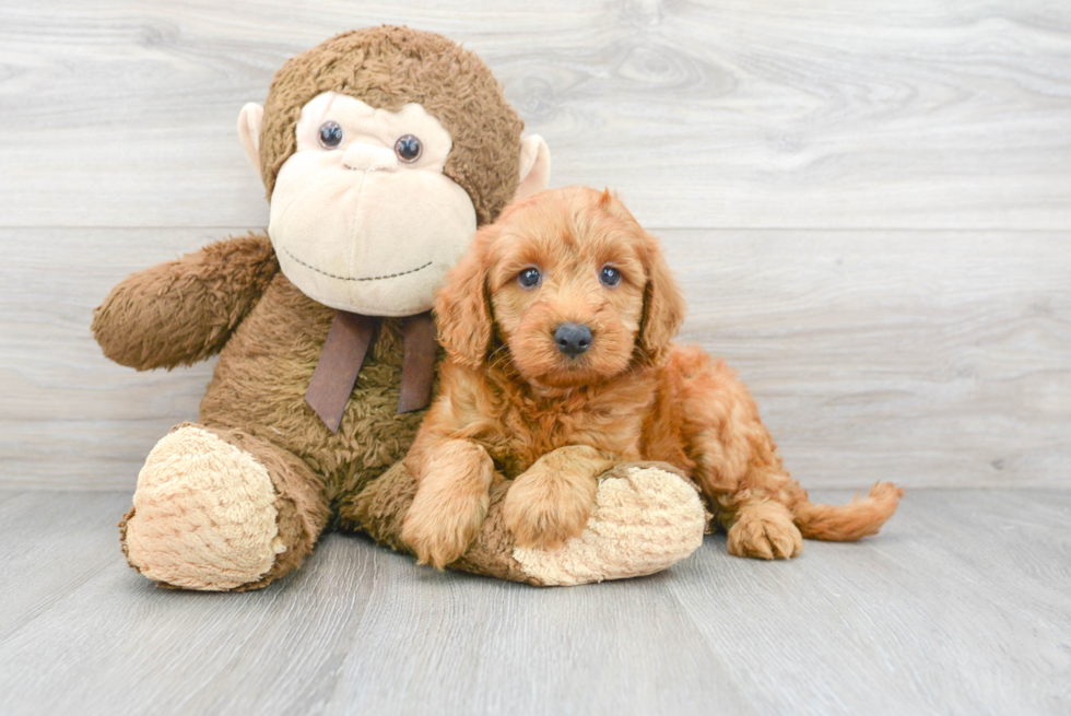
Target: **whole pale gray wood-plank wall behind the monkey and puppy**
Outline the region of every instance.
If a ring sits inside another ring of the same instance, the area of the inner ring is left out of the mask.
[[[1071,484],[1071,2],[0,2],[0,485],[129,489],[211,365],[104,360],[127,273],[262,227],[234,124],[291,55],[476,50],[616,187],[811,486]]]

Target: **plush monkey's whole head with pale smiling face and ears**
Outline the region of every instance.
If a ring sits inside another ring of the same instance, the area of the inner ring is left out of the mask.
[[[474,54],[390,26],[294,57],[238,117],[283,273],[369,316],[429,309],[476,227],[545,187],[550,153],[522,129]]]

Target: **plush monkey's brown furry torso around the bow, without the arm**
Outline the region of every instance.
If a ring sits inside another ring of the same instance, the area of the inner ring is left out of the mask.
[[[401,320],[384,319],[357,375],[339,432],[326,430],[305,389],[334,310],[279,274],[220,355],[201,422],[239,429],[299,457],[325,482],[325,498],[358,492],[404,456],[422,412],[398,412]]]

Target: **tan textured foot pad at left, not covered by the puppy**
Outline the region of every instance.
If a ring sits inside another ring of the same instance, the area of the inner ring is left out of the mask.
[[[251,455],[196,425],[160,441],[138,476],[130,564],[150,579],[224,590],[259,579],[285,551],[275,489]]]

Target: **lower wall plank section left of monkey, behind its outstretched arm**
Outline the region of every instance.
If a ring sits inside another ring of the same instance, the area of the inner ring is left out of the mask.
[[[0,284],[0,483],[129,489],[155,442],[197,418],[211,362],[139,374],[104,359],[90,324],[128,273],[227,233],[0,230],[14,257]]]

